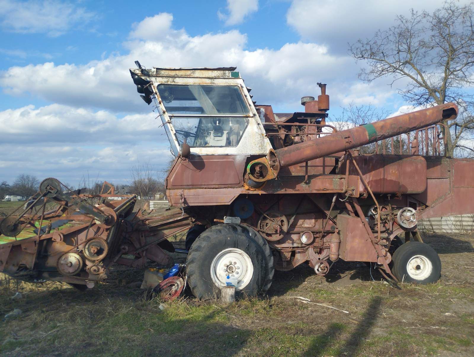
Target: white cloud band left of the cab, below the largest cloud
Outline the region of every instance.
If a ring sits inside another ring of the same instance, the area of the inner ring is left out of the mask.
[[[38,109],[28,105],[0,111],[2,142],[15,143],[134,143],[164,134],[156,115],[118,117],[107,110],[88,110],[61,104]]]

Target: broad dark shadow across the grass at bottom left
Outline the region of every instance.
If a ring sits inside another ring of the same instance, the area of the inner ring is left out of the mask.
[[[159,302],[147,301],[143,291],[110,285],[83,293],[64,286],[31,291],[18,301],[2,296],[1,301],[8,311],[23,311],[19,319],[5,322],[0,329],[0,344],[8,339],[2,346],[4,354],[48,355],[54,345],[57,355],[122,355],[126,351],[128,356],[222,356],[240,353],[254,335],[252,330],[233,326],[228,315],[212,305],[165,303],[165,310],[160,311]],[[70,324],[77,333],[72,339],[64,338],[64,330],[58,327]],[[51,331],[35,336],[18,332],[26,327]],[[9,338],[10,330],[19,338]]]

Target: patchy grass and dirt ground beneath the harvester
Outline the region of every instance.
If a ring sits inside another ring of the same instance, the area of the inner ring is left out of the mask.
[[[224,307],[190,296],[165,303],[127,286],[142,271],[115,267],[107,284],[2,278],[2,355],[474,356],[474,237],[422,235],[442,262],[436,284],[394,287],[359,263],[338,261],[326,277],[307,265],[276,272],[267,296]],[[125,284],[125,285],[124,285]],[[324,303],[344,313],[295,296]]]

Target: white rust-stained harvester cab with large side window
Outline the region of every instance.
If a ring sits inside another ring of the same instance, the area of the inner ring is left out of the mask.
[[[175,156],[266,155],[271,148],[235,67],[130,73],[142,98],[153,100]]]

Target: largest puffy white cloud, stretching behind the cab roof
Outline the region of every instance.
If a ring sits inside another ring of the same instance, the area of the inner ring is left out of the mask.
[[[330,54],[327,46],[297,42],[250,51],[245,49],[247,36],[238,30],[191,37],[184,29],[173,29],[171,19],[162,13],[135,24],[124,43],[128,54],[112,54],[83,65],[48,62],[10,67],[0,73],[0,85],[15,96],[30,92],[80,108],[146,112],[150,107],[140,99],[128,72],[135,60],[148,68],[235,65],[254,88],[255,100],[273,104],[276,110],[299,110],[301,96],[319,94],[316,82],[328,83],[329,94],[347,92],[356,82],[352,59]],[[370,86],[364,90],[356,95],[370,95]]]

